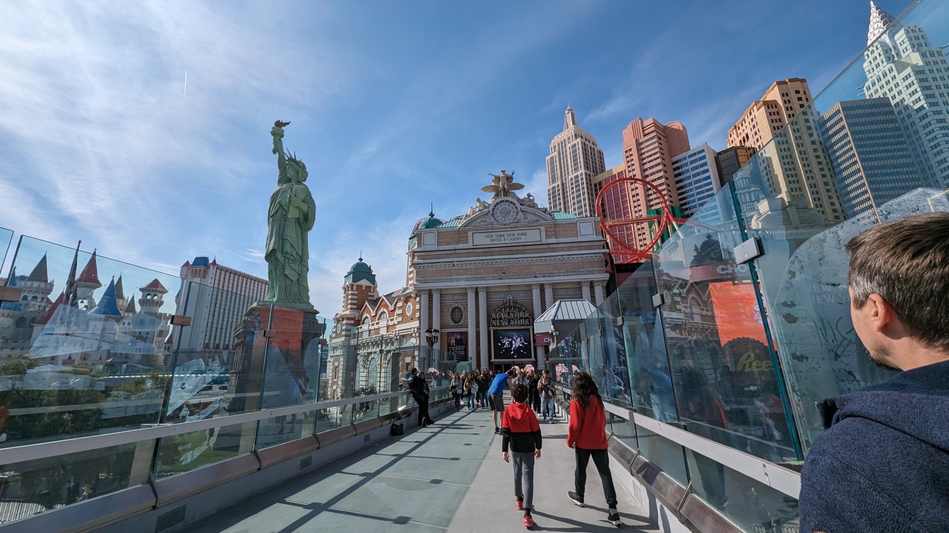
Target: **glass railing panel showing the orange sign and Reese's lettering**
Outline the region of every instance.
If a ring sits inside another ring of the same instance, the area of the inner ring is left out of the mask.
[[[699,215],[704,223],[685,224],[653,256],[679,421],[771,461],[795,459],[754,282],[735,262],[735,211],[710,201]]]

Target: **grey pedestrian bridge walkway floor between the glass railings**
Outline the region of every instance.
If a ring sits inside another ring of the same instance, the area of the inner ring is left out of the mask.
[[[535,530],[612,531],[599,477],[590,463],[586,507],[573,505],[573,450],[567,424],[541,424],[535,472]],[[614,472],[627,531],[659,527],[633,506]],[[450,533],[517,531],[511,466],[490,412],[449,413],[437,424],[386,437],[188,527],[189,533],[345,531]]]

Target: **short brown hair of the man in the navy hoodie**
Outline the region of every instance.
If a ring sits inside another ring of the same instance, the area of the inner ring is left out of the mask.
[[[910,334],[949,350],[949,212],[907,216],[847,243],[853,306],[879,294]]]

